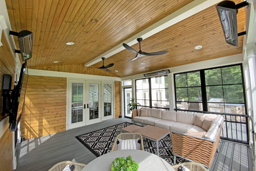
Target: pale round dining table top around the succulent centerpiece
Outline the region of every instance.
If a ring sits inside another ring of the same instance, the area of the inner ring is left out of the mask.
[[[127,157],[130,155],[134,161],[139,164],[138,171],[175,171],[169,163],[155,154],[145,152],[142,150],[117,150],[106,153],[100,157],[95,158],[87,164],[81,171],[89,170],[105,170],[110,171],[112,161],[117,157]]]

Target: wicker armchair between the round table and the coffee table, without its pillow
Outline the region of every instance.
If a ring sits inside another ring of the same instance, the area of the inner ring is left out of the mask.
[[[111,151],[116,151],[117,150],[117,139],[132,140],[132,139],[137,139],[137,138],[141,139],[141,150],[144,150],[143,139],[142,139],[142,136],[139,133],[121,133],[116,137]]]

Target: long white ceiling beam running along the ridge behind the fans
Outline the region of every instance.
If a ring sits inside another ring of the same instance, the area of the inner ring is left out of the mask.
[[[127,39],[123,43],[128,44],[129,46],[132,46],[137,42],[137,38],[141,37],[143,39],[146,39],[180,21],[183,19],[186,19],[190,17],[191,15],[194,15],[218,2],[221,2],[222,0],[195,0],[186,6],[182,7],[181,9],[178,9],[174,13],[168,15],[167,17],[161,19],[160,21],[154,23],[153,25],[147,27],[146,29],[142,30],[138,34],[132,36],[131,38]],[[124,50],[122,43],[118,44],[114,48],[110,49],[109,51],[99,55],[98,57],[94,58],[93,60],[90,60],[89,62],[85,63],[85,67],[89,67],[97,62],[101,61],[101,58],[108,58],[114,54],[117,54],[118,52]]]

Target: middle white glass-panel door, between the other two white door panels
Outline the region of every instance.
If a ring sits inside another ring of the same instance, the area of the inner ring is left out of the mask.
[[[86,81],[86,125],[101,122],[101,82],[100,81]]]

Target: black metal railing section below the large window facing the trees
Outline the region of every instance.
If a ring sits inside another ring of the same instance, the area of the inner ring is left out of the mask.
[[[206,112],[196,110],[174,109],[175,111],[188,112],[188,113],[206,113],[222,115],[224,123],[222,126],[221,139],[234,141],[242,144],[249,144],[248,134],[248,115],[233,114],[233,113],[219,113],[219,112]]]

